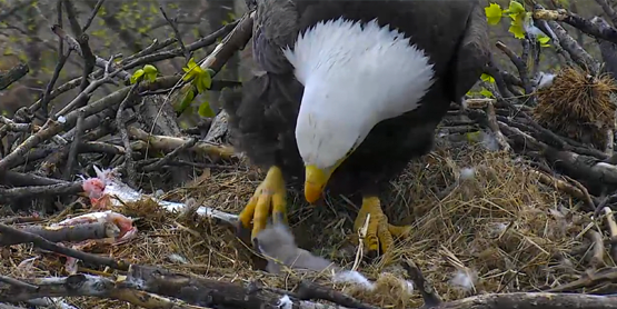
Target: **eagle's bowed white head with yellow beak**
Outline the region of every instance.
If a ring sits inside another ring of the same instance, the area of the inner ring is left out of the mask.
[[[309,202],[378,122],[418,108],[434,82],[424,51],[377,20],[319,22],[283,53],[305,86],[296,139]]]

